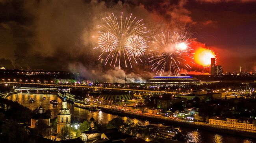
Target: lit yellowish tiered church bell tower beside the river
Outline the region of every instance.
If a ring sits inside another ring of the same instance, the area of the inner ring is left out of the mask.
[[[67,109],[67,101],[66,98],[63,98],[62,108],[59,110],[59,114],[57,116],[57,133],[61,132],[61,129],[65,126],[70,127],[71,124],[71,114],[69,109]]]

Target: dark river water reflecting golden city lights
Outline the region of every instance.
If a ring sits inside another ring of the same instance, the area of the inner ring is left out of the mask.
[[[42,100],[46,97],[46,100]],[[30,98],[34,98],[34,102],[30,103]],[[18,93],[7,97],[8,100],[17,101],[21,105],[28,107],[31,110],[37,109],[40,105],[45,109],[52,111],[52,118],[56,118],[59,109],[62,105],[62,100],[55,94],[29,94],[29,93]],[[57,100],[58,105],[50,104],[50,100]],[[74,107],[72,104],[67,104],[70,109],[71,119],[77,118],[82,121],[84,119],[89,120],[91,117],[95,118],[98,124],[108,123],[111,119],[118,116],[113,114],[104,113],[102,111],[89,111]],[[188,132],[191,143],[256,143],[255,139],[240,138],[237,136],[230,136],[227,134],[209,132],[205,130],[195,130],[190,128],[179,127],[180,129]]]

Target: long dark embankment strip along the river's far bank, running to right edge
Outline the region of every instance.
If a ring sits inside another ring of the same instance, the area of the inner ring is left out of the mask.
[[[58,94],[59,98],[63,98],[61,94]],[[74,104],[74,101],[70,101],[70,103]],[[231,128],[231,127],[224,127],[224,126],[217,126],[217,125],[210,125],[208,123],[202,123],[202,122],[195,122],[195,121],[187,121],[187,120],[181,120],[181,119],[172,119],[168,117],[163,117],[160,115],[154,115],[154,114],[145,114],[145,113],[139,113],[137,111],[132,110],[122,110],[111,106],[100,106],[98,104],[94,104],[94,106],[97,106],[102,110],[102,112],[115,114],[118,116],[127,116],[130,118],[137,118],[137,119],[143,119],[148,120],[156,123],[164,123],[165,125],[174,125],[174,126],[181,126],[181,127],[189,127],[193,129],[201,129],[201,130],[208,130],[212,132],[220,132],[224,134],[230,134],[230,135],[236,135],[236,136],[243,136],[248,138],[256,138],[256,131],[255,130],[245,130],[245,129],[239,129],[239,128]]]

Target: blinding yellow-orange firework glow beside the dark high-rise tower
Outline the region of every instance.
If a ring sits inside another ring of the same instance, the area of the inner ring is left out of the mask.
[[[199,47],[195,50],[194,59],[199,65],[207,67],[211,65],[211,58],[215,58],[215,53],[211,49]]]

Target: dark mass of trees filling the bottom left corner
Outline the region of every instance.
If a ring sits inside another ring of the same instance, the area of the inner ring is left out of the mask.
[[[28,129],[35,112],[7,99],[0,98],[0,143],[47,143],[38,129]]]

